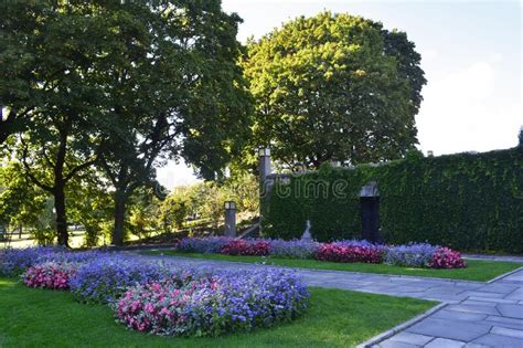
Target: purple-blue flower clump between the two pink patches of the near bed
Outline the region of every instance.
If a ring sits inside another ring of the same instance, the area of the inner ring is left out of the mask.
[[[168,268],[159,263],[110,255],[84,264],[71,280],[74,296],[85,303],[109,303],[129,286],[159,281]]]

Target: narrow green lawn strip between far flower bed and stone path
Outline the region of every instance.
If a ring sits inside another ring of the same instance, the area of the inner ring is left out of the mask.
[[[363,273],[378,273],[378,274],[397,274],[397,275],[417,275],[428,277],[440,277],[463,281],[490,281],[498,275],[511,272],[517,267],[523,266],[522,263],[501,262],[501,261],[483,261],[483,260],[467,260],[468,267],[460,270],[430,270],[430,268],[408,268],[399,266],[389,266],[385,264],[369,264],[369,263],[335,263],[316,260],[292,260],[292,259],[275,259],[262,256],[231,256],[222,254],[196,254],[196,253],[180,253],[172,250],[163,251],[148,251],[145,254],[152,255],[173,255],[183,257],[196,257],[206,260],[222,260],[236,261],[247,263],[265,263],[268,265],[298,267],[298,268],[316,268],[316,270],[331,270],[331,271],[349,271]]]

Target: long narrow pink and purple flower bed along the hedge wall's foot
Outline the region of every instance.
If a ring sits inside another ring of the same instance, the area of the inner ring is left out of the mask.
[[[185,238],[181,240],[177,250],[226,255],[316,259],[330,262],[385,263],[406,267],[460,268],[467,266],[458,252],[428,243],[380,245],[354,240],[318,243],[308,240],[235,240],[215,236]]]

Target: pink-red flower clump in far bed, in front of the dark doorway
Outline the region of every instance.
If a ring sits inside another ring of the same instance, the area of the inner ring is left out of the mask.
[[[342,241],[321,244],[317,259],[331,262],[381,263],[383,247],[369,242]]]

